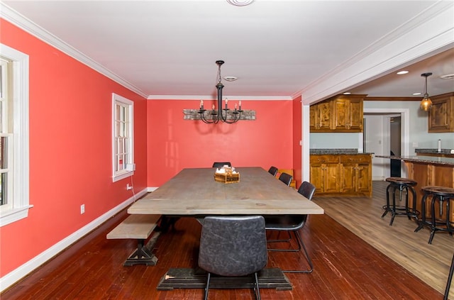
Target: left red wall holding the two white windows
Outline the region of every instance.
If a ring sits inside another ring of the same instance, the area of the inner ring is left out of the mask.
[[[132,196],[130,179],[111,179],[112,92],[135,102],[133,182],[145,189],[147,101],[3,19],[0,30],[0,43],[30,58],[33,205],[28,218],[0,228],[3,277]]]

